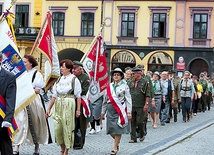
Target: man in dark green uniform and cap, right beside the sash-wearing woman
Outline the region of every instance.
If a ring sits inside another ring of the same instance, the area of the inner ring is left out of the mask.
[[[147,122],[148,104],[150,100],[150,86],[148,80],[142,78],[141,69],[134,67],[132,69],[133,78],[128,83],[132,97],[132,120],[131,120],[131,140],[129,143],[136,143],[136,128],[140,133],[140,141],[145,139],[145,125]]]

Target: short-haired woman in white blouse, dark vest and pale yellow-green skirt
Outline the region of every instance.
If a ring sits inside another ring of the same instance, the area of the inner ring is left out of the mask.
[[[49,117],[53,107],[54,133],[56,143],[61,147],[61,155],[68,155],[69,148],[73,148],[74,117],[80,116],[82,89],[78,78],[71,74],[72,69],[71,60],[65,59],[60,62],[62,76],[53,86],[53,96],[46,112],[46,117]]]

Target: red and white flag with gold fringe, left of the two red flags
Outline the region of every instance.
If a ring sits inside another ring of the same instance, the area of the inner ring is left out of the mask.
[[[45,22],[41,27],[41,33],[38,37],[37,49],[45,56],[44,80],[46,82],[45,90],[54,84],[60,76],[59,58],[57,55],[56,42],[51,26],[52,15],[48,11]]]

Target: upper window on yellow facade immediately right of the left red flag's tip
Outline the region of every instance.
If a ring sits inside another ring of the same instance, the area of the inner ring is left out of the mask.
[[[64,12],[53,12],[52,25],[55,36],[64,35],[64,24],[65,24],[65,13]]]

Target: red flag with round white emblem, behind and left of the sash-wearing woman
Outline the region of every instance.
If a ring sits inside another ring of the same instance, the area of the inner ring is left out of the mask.
[[[103,95],[108,85],[107,62],[101,35],[97,37],[82,64],[90,77],[89,100],[93,103]]]

